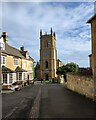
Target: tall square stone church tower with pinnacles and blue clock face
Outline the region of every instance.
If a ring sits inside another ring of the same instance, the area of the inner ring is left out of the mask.
[[[40,78],[49,80],[56,76],[56,35],[52,31],[51,34],[42,35],[40,30]]]

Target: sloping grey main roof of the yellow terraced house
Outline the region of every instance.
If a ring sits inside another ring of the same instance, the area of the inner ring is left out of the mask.
[[[22,52],[20,50],[18,50],[17,48],[14,48],[12,46],[10,46],[8,43],[5,43],[5,50],[2,50],[2,53],[26,59],[26,57],[22,54]],[[31,58],[30,56],[29,56],[28,60],[34,61],[34,59]]]

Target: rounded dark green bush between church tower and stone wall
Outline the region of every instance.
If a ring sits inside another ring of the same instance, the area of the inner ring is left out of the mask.
[[[68,72],[78,72],[79,66],[76,63],[68,63],[57,69],[57,75],[65,75]]]

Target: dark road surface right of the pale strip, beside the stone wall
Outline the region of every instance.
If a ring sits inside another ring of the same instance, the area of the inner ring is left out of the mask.
[[[96,103],[60,84],[43,85],[40,118],[96,118]]]

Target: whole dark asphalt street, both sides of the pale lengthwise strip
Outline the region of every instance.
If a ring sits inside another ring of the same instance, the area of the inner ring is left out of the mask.
[[[44,83],[3,94],[3,117],[28,118],[40,88],[39,118],[96,118],[95,102],[66,89],[61,84]]]

